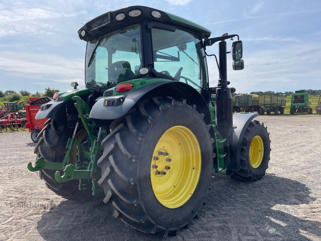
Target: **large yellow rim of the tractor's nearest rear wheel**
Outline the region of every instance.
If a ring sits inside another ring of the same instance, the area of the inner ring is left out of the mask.
[[[201,149],[184,126],[168,129],[159,139],[151,161],[152,189],[167,208],[178,208],[193,195],[201,173]]]

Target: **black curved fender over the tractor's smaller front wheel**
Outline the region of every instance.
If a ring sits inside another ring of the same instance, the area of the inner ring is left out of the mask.
[[[233,128],[230,137],[230,163],[227,165],[229,170],[240,170],[240,154],[241,154],[241,144],[243,136],[247,129],[248,124],[258,116],[258,113],[235,113],[233,114]]]

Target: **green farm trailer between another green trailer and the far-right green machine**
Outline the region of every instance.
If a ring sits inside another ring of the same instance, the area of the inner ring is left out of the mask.
[[[265,92],[263,94],[259,94],[259,110],[258,113],[260,115],[264,115],[266,112],[268,115],[271,112],[274,112],[274,115],[284,114],[284,106],[285,106],[285,94],[273,93],[273,92]]]

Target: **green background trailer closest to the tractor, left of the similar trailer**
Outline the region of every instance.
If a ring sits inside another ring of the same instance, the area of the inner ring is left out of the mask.
[[[236,112],[255,112],[258,111],[259,106],[259,96],[257,94],[238,94],[235,95],[235,103],[233,108]]]

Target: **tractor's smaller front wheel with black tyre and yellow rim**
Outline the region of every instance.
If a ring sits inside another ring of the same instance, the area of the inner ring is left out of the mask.
[[[256,181],[265,175],[270,160],[270,133],[262,122],[253,120],[245,131],[240,154],[239,171],[226,174],[243,181]]]

